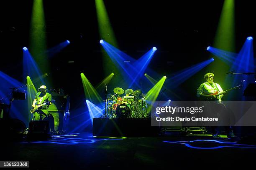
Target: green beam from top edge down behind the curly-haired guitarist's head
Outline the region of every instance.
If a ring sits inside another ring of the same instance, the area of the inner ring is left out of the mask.
[[[235,52],[235,3],[234,0],[225,0],[216,30],[213,47]],[[213,55],[211,55],[213,57]],[[208,72],[213,72],[219,79],[219,82],[224,82],[226,72],[230,69],[225,62],[220,60],[218,57],[214,58],[208,67]],[[218,68],[218,69],[216,69]]]

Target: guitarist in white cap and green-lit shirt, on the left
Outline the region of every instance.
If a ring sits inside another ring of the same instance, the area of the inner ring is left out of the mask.
[[[49,105],[51,105],[51,94],[46,92],[47,88],[45,85],[41,85],[38,88],[38,93],[36,93],[35,99],[33,101],[32,107],[36,107],[36,105],[41,105],[46,102],[46,105],[43,105],[38,108],[36,112],[34,112],[33,120],[49,120],[51,131],[54,132],[54,121],[52,121],[53,117],[49,116],[48,109]]]

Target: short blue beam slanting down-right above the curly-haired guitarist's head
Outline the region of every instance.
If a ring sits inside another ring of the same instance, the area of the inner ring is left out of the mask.
[[[207,47],[207,50],[209,52],[211,52],[213,55],[217,56],[218,58],[220,58],[220,60],[222,60],[223,62],[225,62],[228,65],[232,65],[232,63],[236,60],[237,54],[234,52],[228,52],[225,50],[220,50],[218,48],[215,47]]]

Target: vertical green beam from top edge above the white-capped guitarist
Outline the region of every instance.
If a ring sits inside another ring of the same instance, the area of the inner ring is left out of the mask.
[[[30,25],[30,45],[29,49],[34,56],[36,62],[39,64],[43,72],[48,72],[48,62],[46,56],[46,25],[44,18],[43,0],[34,0],[31,25]]]

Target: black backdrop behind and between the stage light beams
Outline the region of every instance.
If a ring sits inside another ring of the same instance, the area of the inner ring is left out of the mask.
[[[224,1],[104,2],[118,48],[138,59],[151,47],[157,47],[148,67],[160,75],[169,75],[210,58],[206,47],[213,44]],[[29,49],[32,5],[32,0],[5,1],[0,7],[0,70],[20,82],[23,82],[22,47]],[[51,72],[47,78],[52,87],[61,87],[71,96],[72,110],[84,102],[80,73],[84,72],[92,85],[105,77],[95,1],[45,0],[44,14],[47,47],[64,40],[71,42],[51,57]],[[239,52],[246,37],[255,37],[255,16],[251,1],[235,1],[234,52]],[[180,85],[179,90],[184,92],[182,100],[195,99],[195,90],[203,82],[205,73],[203,69]]]

